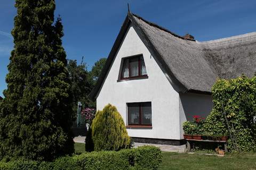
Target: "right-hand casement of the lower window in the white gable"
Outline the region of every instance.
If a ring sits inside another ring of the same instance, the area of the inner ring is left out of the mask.
[[[142,112],[141,124],[151,125],[152,124],[151,103],[150,102],[142,103],[141,112]]]

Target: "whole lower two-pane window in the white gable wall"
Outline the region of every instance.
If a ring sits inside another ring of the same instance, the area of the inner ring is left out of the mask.
[[[151,102],[127,103],[129,125],[152,125]]]

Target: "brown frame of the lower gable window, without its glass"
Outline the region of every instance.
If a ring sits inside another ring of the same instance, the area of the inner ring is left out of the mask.
[[[144,103],[150,103],[150,108],[151,108],[151,124],[142,124],[142,104]],[[139,124],[132,124],[130,123],[130,114],[129,114],[129,104],[139,104]],[[147,101],[147,102],[137,102],[137,103],[127,103],[127,114],[128,114],[128,126],[152,126],[152,103],[151,101]]]

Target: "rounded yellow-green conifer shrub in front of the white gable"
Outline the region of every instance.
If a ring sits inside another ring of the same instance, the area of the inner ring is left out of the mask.
[[[131,139],[115,106],[108,104],[97,112],[92,122],[92,139],[95,151],[129,148]]]

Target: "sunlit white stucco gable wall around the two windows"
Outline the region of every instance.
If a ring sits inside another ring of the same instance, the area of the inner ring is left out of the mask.
[[[143,54],[148,79],[117,82],[123,57]],[[151,56],[133,27],[121,47],[97,97],[97,109],[115,105],[127,125],[126,103],[151,101],[152,129],[127,129],[131,137],[180,139],[179,94]]]

